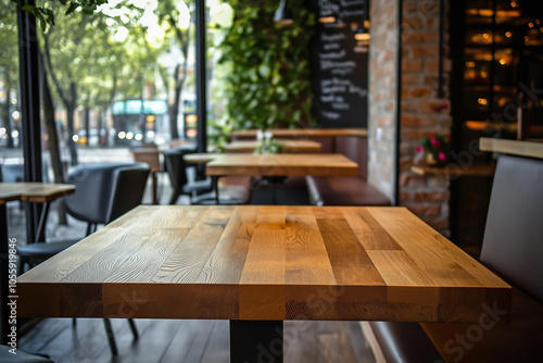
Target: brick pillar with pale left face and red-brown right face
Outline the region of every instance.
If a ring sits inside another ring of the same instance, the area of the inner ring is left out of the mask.
[[[397,0],[371,2],[368,180],[390,197],[393,195],[394,176],[391,171],[394,166],[390,166],[390,163],[394,161],[393,136],[396,133],[397,108],[396,59],[393,49],[397,49],[397,45],[389,51],[380,48],[383,43],[391,47],[390,39],[399,37],[395,25],[397,7]],[[451,128],[447,93],[451,62],[446,60],[446,48],[443,98],[438,98],[439,0],[404,0],[401,39],[402,101],[399,110],[401,142],[397,202],[442,234],[449,235],[449,179],[439,175],[417,176],[409,170],[414,163],[420,162],[416,152],[418,139],[430,133],[449,133]],[[446,42],[445,24],[444,43]],[[390,59],[388,54],[391,54]]]

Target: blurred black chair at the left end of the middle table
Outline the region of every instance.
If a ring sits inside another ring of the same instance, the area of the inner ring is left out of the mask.
[[[169,199],[169,204],[175,204],[180,196],[189,196],[191,203],[194,198],[213,190],[213,184],[210,178],[205,180],[193,180],[193,177],[189,177],[189,166],[185,160],[184,155],[189,153],[186,149],[168,149],[164,150],[164,168],[168,173],[169,182],[172,188],[172,198]]]

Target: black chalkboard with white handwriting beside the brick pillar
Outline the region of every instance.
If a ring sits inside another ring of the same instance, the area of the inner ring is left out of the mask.
[[[367,0],[312,0],[317,21],[312,43],[313,116],[323,128],[367,126],[367,45],[355,36]]]

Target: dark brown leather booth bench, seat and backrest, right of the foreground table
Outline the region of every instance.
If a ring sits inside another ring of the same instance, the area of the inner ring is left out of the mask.
[[[488,305],[472,324],[363,322],[387,362],[434,362],[421,358],[435,349],[446,362],[543,362],[541,180],[543,160],[500,157],[481,263],[513,287],[510,316]]]

